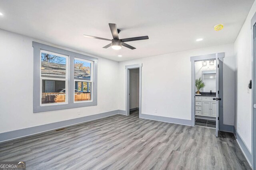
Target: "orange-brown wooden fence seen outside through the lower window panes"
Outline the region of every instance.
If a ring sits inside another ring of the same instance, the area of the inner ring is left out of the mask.
[[[42,93],[42,104],[65,102],[66,93]],[[75,92],[75,101],[91,100],[90,92]]]

